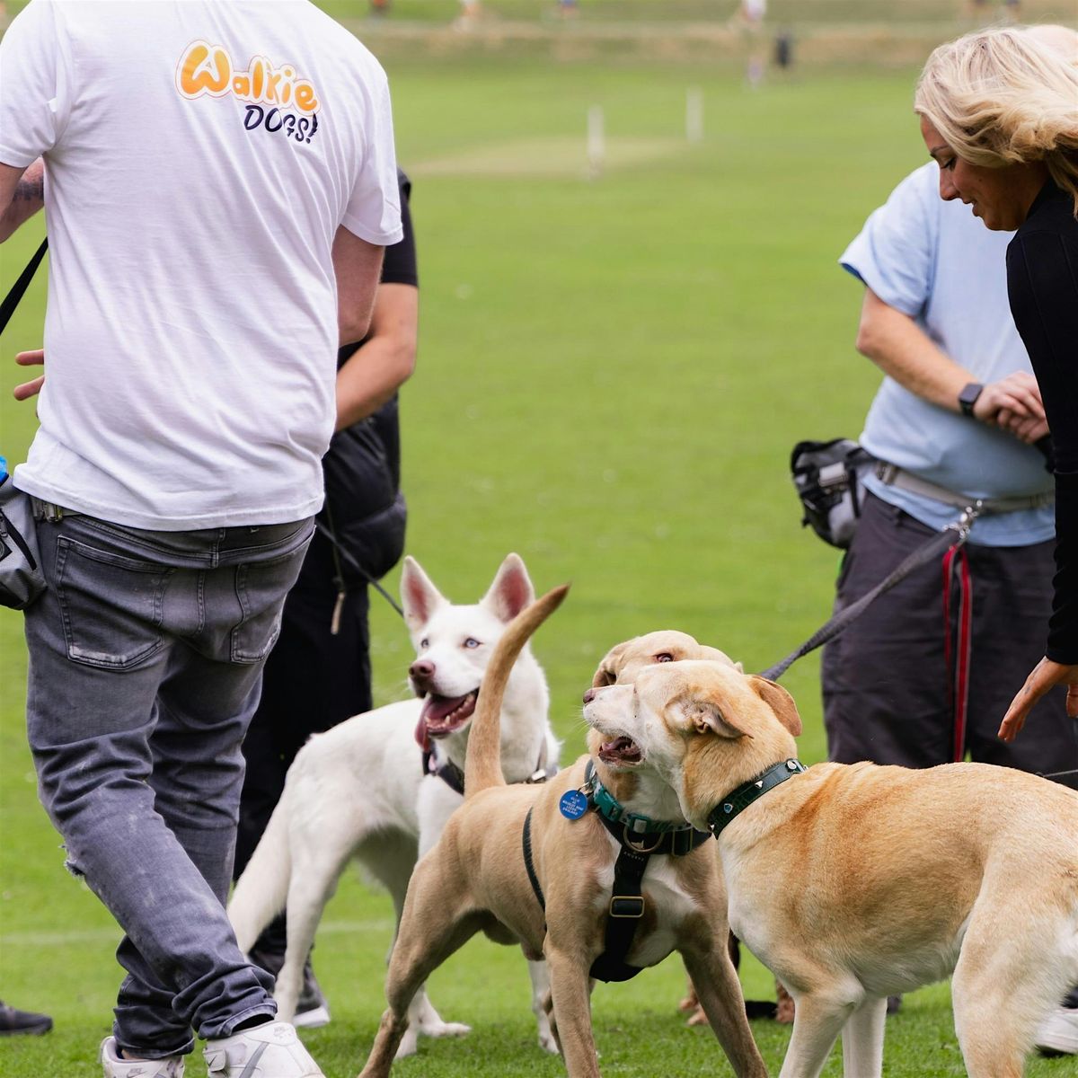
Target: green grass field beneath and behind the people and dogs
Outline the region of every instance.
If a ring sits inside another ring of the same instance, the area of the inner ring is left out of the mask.
[[[401,3],[400,6],[404,6]],[[535,650],[564,757],[582,747],[580,694],[613,642],[677,627],[762,668],[829,612],[837,552],[799,526],[787,467],[802,438],[855,436],[877,377],[853,348],[860,289],[837,258],[924,160],[912,70],[813,72],[759,92],[736,66],[551,65],[496,56],[395,58],[401,162],[415,181],[420,358],[403,395],[409,550],[472,600],[510,550],[539,589],[572,581]],[[683,136],[700,87],[705,138]],[[585,177],[585,113],[605,109],[609,167]],[[3,249],[3,287],[42,231]],[[40,343],[40,279],[0,351],[0,452],[23,459],[31,409],[9,399],[13,354]],[[396,586],[396,575],[390,583]],[[0,613],[0,995],[56,1019],[0,1042],[10,1078],[91,1076],[120,970],[110,916],[63,868],[23,731],[20,619]],[[410,648],[373,599],[379,702],[404,692]],[[784,683],[825,756],[818,664]],[[798,881],[785,881],[796,888]],[[332,1024],[306,1036],[329,1078],[354,1075],[383,1007],[388,899],[346,877],[316,965]],[[763,997],[765,970],[746,964]],[[604,1074],[728,1075],[675,1009],[676,960],[595,992]],[[536,1047],[519,952],[470,943],[433,978],[459,1042],[424,1042],[401,1078],[555,1076]],[[788,1031],[757,1023],[772,1073]],[[945,986],[888,1022],[893,1078],[964,1074]],[[189,1068],[203,1074],[201,1060]],[[1034,1061],[1064,1078],[1072,1061]],[[828,1076],[841,1074],[839,1054]]]

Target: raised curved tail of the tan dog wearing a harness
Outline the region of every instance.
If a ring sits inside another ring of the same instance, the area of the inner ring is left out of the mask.
[[[501,774],[501,701],[513,663],[531,634],[562,605],[569,585],[562,584],[525,607],[495,646],[483,675],[465,759],[465,800],[490,786],[505,786]]]

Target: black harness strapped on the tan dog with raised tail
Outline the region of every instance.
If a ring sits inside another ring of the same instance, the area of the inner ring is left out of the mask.
[[[644,916],[642,881],[648,859],[652,856],[683,857],[711,835],[709,831],[696,831],[683,821],[654,820],[626,812],[599,782],[591,760],[588,761],[584,785],[579,792],[588,799],[585,811],[594,811],[603,826],[621,846],[613,866],[613,887],[607,907],[604,950],[592,963],[590,976],[598,981],[627,981],[636,977],[641,969],[640,966],[630,966],[625,962],[625,956],[633,945],[636,927]],[[539,906],[545,911],[547,899],[536,875],[531,857],[530,808],[524,817],[521,846],[531,889],[539,900]]]

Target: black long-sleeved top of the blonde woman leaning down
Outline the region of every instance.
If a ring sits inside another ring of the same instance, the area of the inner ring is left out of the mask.
[[[1078,220],[1051,180],[1007,248],[1014,324],[1033,363],[1055,452],[1055,597],[1045,651],[1078,663]]]

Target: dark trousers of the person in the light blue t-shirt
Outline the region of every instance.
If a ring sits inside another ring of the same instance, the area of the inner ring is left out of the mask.
[[[835,611],[870,591],[934,534],[897,507],[868,495],[843,561]],[[930,768],[968,756],[1041,774],[1078,769],[1078,722],[1067,718],[1063,688],[1053,689],[1037,704],[1014,742],[996,736],[1011,699],[1045,653],[1052,608],[1052,549],[1051,541],[1028,547],[966,545],[972,605],[968,706],[964,723],[958,716],[958,727],[954,702],[958,588],[952,583],[948,623],[940,564],[912,573],[832,640],[821,666],[830,758],[840,763],[871,760]],[[1062,780],[1074,785],[1076,777]]]

